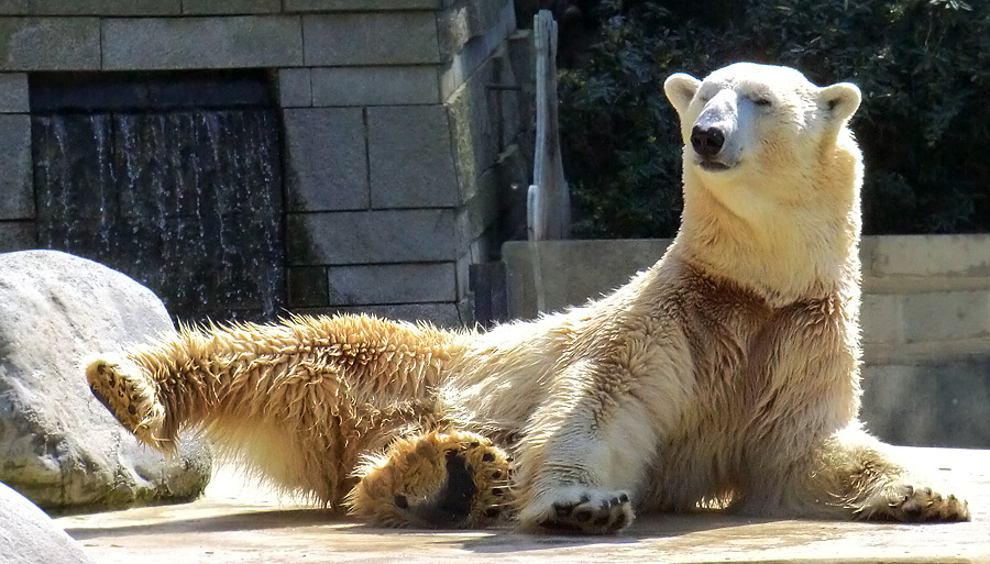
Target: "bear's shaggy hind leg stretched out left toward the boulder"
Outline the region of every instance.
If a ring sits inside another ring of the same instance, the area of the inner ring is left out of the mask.
[[[362,453],[443,418],[453,333],[363,316],[184,329],[86,368],[130,431],[163,450],[200,428],[289,491],[340,507]]]

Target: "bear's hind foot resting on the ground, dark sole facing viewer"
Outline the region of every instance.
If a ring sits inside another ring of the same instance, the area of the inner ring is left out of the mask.
[[[345,504],[377,524],[477,527],[508,517],[508,457],[476,433],[399,439],[356,474]]]

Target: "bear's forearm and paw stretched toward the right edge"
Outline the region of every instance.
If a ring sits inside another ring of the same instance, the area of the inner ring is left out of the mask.
[[[838,513],[903,522],[970,519],[965,500],[912,477],[884,454],[884,446],[857,425],[839,431],[810,457],[814,466],[787,486],[794,496],[791,504],[810,517]]]

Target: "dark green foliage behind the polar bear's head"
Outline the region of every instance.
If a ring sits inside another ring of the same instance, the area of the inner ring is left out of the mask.
[[[670,236],[681,142],[675,71],[737,60],[856,82],[867,233],[990,231],[990,2],[603,0],[598,35],[561,71],[575,236]]]

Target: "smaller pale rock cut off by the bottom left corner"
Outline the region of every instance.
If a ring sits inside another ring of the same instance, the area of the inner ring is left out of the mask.
[[[3,484],[0,484],[0,555],[6,564],[92,563],[44,511]]]

